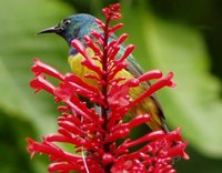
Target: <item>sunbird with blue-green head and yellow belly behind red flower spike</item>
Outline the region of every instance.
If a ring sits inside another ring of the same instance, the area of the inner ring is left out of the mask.
[[[87,48],[84,37],[90,35],[90,31],[92,29],[102,34],[95,20],[97,18],[90,14],[84,14],[84,13],[73,14],[62,20],[56,27],[47,28],[38,33],[38,34],[56,33],[62,37],[67,41],[70,48],[68,61],[70,63],[73,73],[75,73],[84,82],[93,86],[98,86],[97,81],[89,78],[84,78],[84,75],[94,72],[92,72],[87,67],[81,64],[81,61],[84,58],[71,45],[71,41],[73,39],[80,40],[84,44],[87,52],[90,53],[89,55],[93,55],[92,50],[90,48]],[[115,35],[112,35],[110,39],[114,38]],[[120,58],[123,54],[124,49],[125,49],[124,45],[121,45],[121,49],[117,58]],[[128,67],[121,72],[119,72],[117,75],[123,77],[127,81],[143,74],[142,68],[139,65],[139,63],[135,61],[132,54],[130,54],[129,58],[127,59],[127,64]],[[147,83],[142,83],[139,86],[131,89],[129,93],[130,98],[131,99],[138,98],[149,88],[149,85],[150,82],[148,81]],[[144,114],[144,113],[148,113],[151,116],[151,121],[148,123],[151,130],[153,131],[163,130],[168,132],[168,128],[164,124],[165,118],[162,108],[154,94],[144,99],[142,102],[138,103],[133,109],[130,110],[129,114]]]

